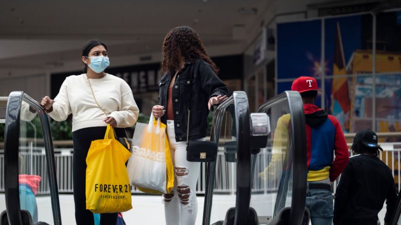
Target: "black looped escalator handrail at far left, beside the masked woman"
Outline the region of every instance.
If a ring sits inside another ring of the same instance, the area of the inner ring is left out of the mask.
[[[9,138],[9,139],[8,139],[7,143],[5,140],[5,155],[6,155],[6,153],[15,154],[17,156],[17,159],[11,158],[12,164],[10,166],[5,166],[5,170],[6,170],[5,178],[8,175],[17,177],[17,189],[16,189],[17,192],[12,193],[12,194],[14,194],[14,199],[18,200],[18,205],[15,205],[15,203],[14,204],[11,203],[10,205],[8,205],[7,201],[6,201],[7,212],[10,213],[11,210],[15,210],[13,212],[18,212],[16,214],[18,214],[19,217],[21,218],[21,208],[19,205],[19,191],[18,191],[18,151],[15,151],[15,149],[19,149],[20,112],[21,112],[21,103],[23,100],[36,110],[36,112],[39,116],[39,119],[40,119],[42,132],[43,132],[43,139],[44,139],[47,174],[49,176],[49,188],[50,188],[50,197],[51,197],[51,207],[52,207],[52,213],[53,213],[53,222],[55,225],[61,225],[62,221],[61,221],[61,212],[60,212],[59,189],[58,189],[58,184],[57,184],[57,180],[56,180],[54,149],[53,149],[53,143],[52,143],[52,139],[51,139],[50,123],[48,120],[48,116],[47,116],[46,112],[44,111],[44,108],[39,103],[37,103],[33,98],[31,98],[24,92],[10,93],[9,101],[7,103],[6,138]],[[9,109],[10,104],[16,104],[17,110],[15,111],[15,109],[13,109],[14,111],[12,111],[11,108]],[[7,132],[8,128],[12,128],[14,130],[14,132],[12,134],[8,133]],[[15,134],[18,134],[18,135],[15,135]],[[14,135],[14,138],[10,138],[9,135]],[[6,160],[6,162],[7,162],[7,160]],[[15,174],[15,173],[7,174],[6,168],[10,169],[11,171],[14,171],[16,169],[17,174]],[[15,182],[13,185],[15,185]],[[5,183],[5,186],[7,189],[7,186],[8,186],[7,182]],[[10,192],[9,192],[9,194],[10,194]],[[7,195],[8,195],[8,193],[6,191],[6,199],[7,199]],[[9,208],[9,207],[12,207],[12,208]],[[8,215],[10,216],[10,214],[8,214]],[[16,217],[16,219],[18,219],[17,217]],[[9,217],[9,219],[10,219],[10,217]],[[19,221],[17,220],[17,222],[19,222]],[[22,223],[11,223],[11,224],[22,224]]]

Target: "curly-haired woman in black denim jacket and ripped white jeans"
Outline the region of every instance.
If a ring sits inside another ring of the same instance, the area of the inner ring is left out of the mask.
[[[200,163],[187,161],[187,127],[189,140],[205,140],[209,110],[227,98],[228,89],[217,77],[218,68],[198,34],[188,26],[174,28],[165,36],[161,72],[159,105],[152,113],[167,124],[176,178],[173,192],[164,194],[165,219],[168,225],[191,225],[198,210],[195,188]]]

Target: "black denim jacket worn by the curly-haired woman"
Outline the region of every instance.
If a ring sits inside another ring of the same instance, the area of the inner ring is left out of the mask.
[[[193,72],[192,81],[191,72]],[[164,106],[165,109],[167,109],[167,91],[172,75],[174,75],[174,71],[166,72],[159,82],[159,105]],[[207,103],[210,97],[218,95],[228,97],[227,86],[217,77],[210,64],[201,59],[196,59],[193,63],[187,62],[184,68],[178,72],[172,91],[174,128],[177,141],[187,140],[190,88],[192,88],[190,140],[206,137],[207,115],[209,113]],[[166,123],[166,115],[167,113],[164,113],[161,117],[161,122]]]

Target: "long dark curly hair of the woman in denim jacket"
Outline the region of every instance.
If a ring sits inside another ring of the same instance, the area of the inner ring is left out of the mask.
[[[180,70],[180,56],[187,62],[203,59],[209,63],[214,72],[218,73],[216,64],[210,59],[198,34],[188,26],[176,27],[165,36],[162,46],[160,71],[170,72]]]

